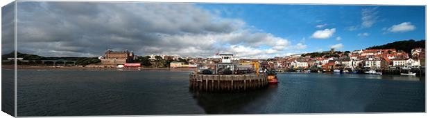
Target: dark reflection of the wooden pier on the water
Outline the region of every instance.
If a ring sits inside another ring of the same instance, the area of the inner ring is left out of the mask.
[[[277,85],[269,85],[267,88],[248,92],[190,92],[198,106],[203,108],[207,114],[256,114],[262,112],[249,110],[249,108],[266,106],[271,97],[274,97],[273,93],[277,92]]]

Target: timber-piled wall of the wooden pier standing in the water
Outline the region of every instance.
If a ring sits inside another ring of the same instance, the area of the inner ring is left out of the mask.
[[[246,75],[189,75],[190,90],[207,92],[245,91],[268,86],[266,74]]]

